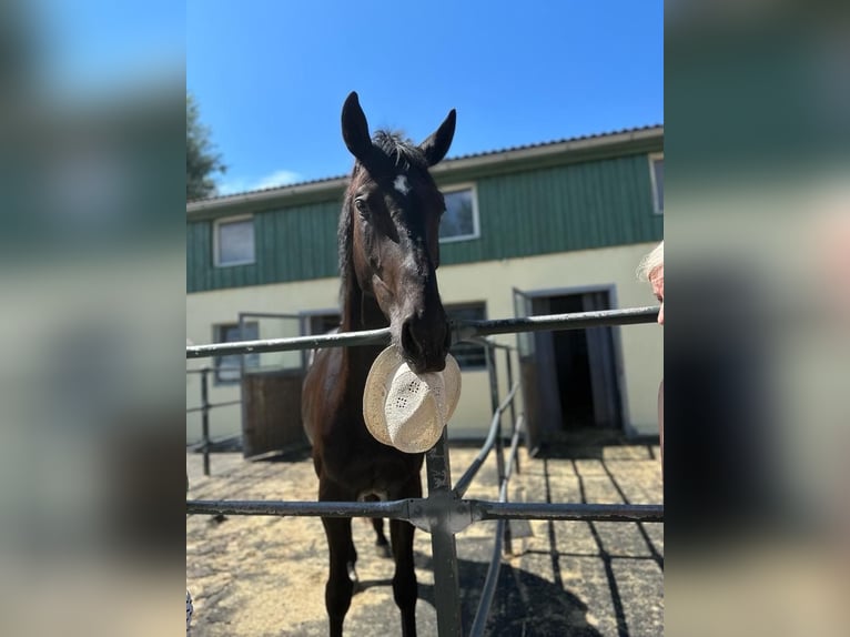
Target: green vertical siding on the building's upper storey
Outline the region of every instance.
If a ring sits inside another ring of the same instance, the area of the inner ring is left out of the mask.
[[[446,265],[659,241],[646,153],[475,181],[480,235],[444,243]],[[446,175],[446,185],[449,175]],[[213,222],[186,232],[189,292],[337,275],[340,200],[254,214],[256,262],[215,267]]]

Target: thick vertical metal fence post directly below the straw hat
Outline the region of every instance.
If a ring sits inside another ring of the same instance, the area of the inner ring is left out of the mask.
[[[452,468],[448,464],[447,432],[425,455],[428,474],[428,501],[442,501],[445,506],[432,522],[431,550],[434,562],[434,605],[437,609],[438,637],[462,637],[461,584],[457,576],[457,545],[448,528],[452,494]]]

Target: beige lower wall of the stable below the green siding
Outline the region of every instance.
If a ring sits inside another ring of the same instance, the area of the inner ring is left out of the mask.
[[[600,250],[489,261],[470,265],[444,266],[439,270],[439,290],[446,304],[484,301],[488,318],[514,316],[513,289],[524,292],[550,290],[569,293],[571,289],[613,287],[617,307],[655,304],[647,284],[635,277],[640,257],[655,244],[636,244]],[[324,279],[302,283],[262,285],[186,296],[186,337],[193,343],[212,341],[212,325],[234,322],[242,312],[298,313],[334,310],[337,306],[338,281]],[[664,336],[657,325],[631,325],[619,328],[624,365],[625,419],[638,434],[657,433],[656,395],[664,373]],[[269,327],[271,331],[271,324]],[[272,337],[261,323],[261,337]],[[496,336],[507,345],[516,344],[513,334]],[[497,354],[500,395],[506,392],[504,354]],[[203,365],[190,361],[190,367]],[[517,370],[516,364],[514,370]],[[516,374],[515,374],[516,375]],[[211,383],[211,402],[239,397],[234,386],[217,387]],[[186,405],[199,404],[198,378],[186,384]],[[452,437],[480,437],[490,422],[490,396],[486,372],[464,372],[461,403],[449,424]],[[211,435],[236,435],[241,431],[239,407],[211,412]],[[186,419],[186,439],[200,437],[200,417]]]

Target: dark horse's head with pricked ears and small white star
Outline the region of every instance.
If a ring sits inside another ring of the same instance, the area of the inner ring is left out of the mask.
[[[377,302],[411,367],[442,371],[451,345],[436,277],[445,201],[428,169],[448,152],[455,111],[418,145],[384,131],[372,138],[353,92],[343,107],[342,130],[356,159],[343,206],[353,275]]]

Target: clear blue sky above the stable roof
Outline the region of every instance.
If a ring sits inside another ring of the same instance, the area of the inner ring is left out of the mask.
[[[664,121],[660,0],[189,0],[185,51],[222,193],[346,174],[352,90],[448,156]]]

